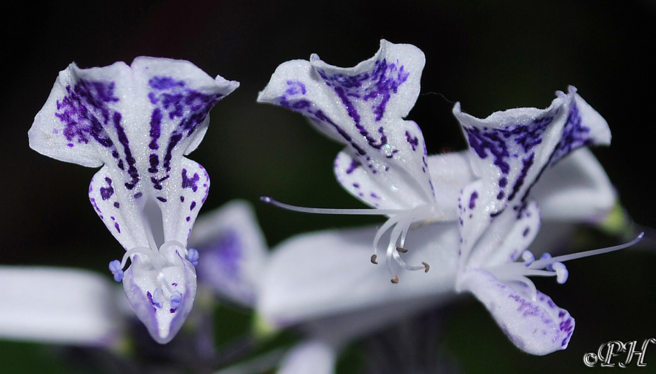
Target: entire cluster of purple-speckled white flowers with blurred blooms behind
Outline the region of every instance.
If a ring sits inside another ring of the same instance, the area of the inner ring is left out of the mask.
[[[270,253],[245,203],[206,215],[192,231],[209,176],[184,156],[199,146],[209,111],[236,81],[163,58],[91,69],[71,64],[35,117],[30,147],[101,167],[89,200],[125,249],[109,270],[160,344],[187,319],[199,278],[223,300],[255,310],[262,324],[306,331],[307,339],[282,360],[282,373],[304,373],[308,365],[329,373],[351,339],[401,315],[433,310],[458,293],[477,297],[522,351],[565,349],[574,319],[528,277],[565,283],[563,262],[633,244],[552,257],[544,251],[549,244],[536,239],[543,222],[597,223],[615,207],[613,186],[587,149],[610,143],[608,124],[573,86],[558,91],[545,109],[516,108],[484,119],[456,103],[452,112],[467,149],[429,155],[418,124],[404,119],[420,94],[424,64],[417,47],[382,40],[376,55],[355,67],[311,55],[276,69],[257,101],[299,112],[345,145],[335,176],[371,208],[262,200],[387,221],[301,234]],[[385,266],[376,266],[379,261]],[[69,283],[73,277],[58,276]],[[104,284],[95,289],[109,292]],[[107,314],[81,305],[96,319]],[[100,332],[71,339],[116,335],[120,328],[110,317]]]

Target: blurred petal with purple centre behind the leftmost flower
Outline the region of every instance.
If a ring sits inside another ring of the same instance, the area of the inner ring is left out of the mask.
[[[268,247],[250,203],[234,200],[201,215],[189,238],[199,280],[228,300],[255,306]]]

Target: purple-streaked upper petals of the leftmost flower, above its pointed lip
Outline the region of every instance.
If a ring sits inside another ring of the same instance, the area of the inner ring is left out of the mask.
[[[238,86],[182,60],[137,57],[131,66],[60,72],[29,131],[30,147],[67,162],[105,165],[89,198],[126,249],[148,246],[142,210],[160,206],[165,240],[187,242],[209,188],[182,157],[201,141],[208,113]]]

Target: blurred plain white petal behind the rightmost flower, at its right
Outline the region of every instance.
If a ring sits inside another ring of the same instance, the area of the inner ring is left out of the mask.
[[[618,202],[606,171],[587,148],[547,169],[531,195],[545,220],[562,222],[602,222]]]

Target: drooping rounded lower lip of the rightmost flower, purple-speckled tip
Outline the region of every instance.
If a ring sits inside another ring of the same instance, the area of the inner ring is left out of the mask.
[[[462,285],[487,307],[517,348],[538,356],[567,348],[574,319],[547,295],[538,291],[531,300],[518,292],[526,285],[502,283],[482,270],[467,271]]]

